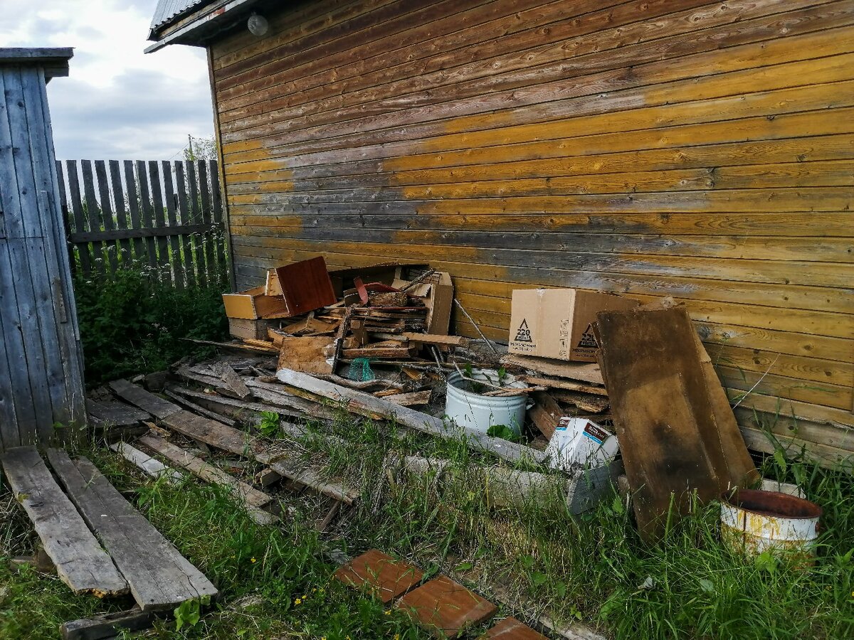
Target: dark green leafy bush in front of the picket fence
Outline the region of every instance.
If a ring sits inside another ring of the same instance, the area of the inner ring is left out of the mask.
[[[91,387],[126,375],[166,369],[206,351],[183,340],[222,340],[228,321],[225,285],[176,289],[141,268],[74,282],[86,383]]]

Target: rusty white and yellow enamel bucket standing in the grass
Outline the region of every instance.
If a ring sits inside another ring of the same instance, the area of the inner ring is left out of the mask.
[[[811,554],[822,508],[786,493],[741,489],[721,498],[721,539],[734,550]]]

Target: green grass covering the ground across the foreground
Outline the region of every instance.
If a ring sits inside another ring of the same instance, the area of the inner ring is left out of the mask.
[[[306,462],[362,492],[357,508],[330,533],[310,523],[328,506],[305,494],[282,527],[260,527],[215,487],[187,480],[168,486],[144,480],[106,452],[92,454],[167,538],[223,591],[190,630],[159,625],[155,637],[401,638],[426,637],[397,612],[330,581],[333,548],[354,555],[371,547],[416,562],[428,575],[450,573],[491,597],[515,604],[506,613],[545,612],[560,625],[597,627],[608,637],[854,637],[854,479],[804,461],[769,457],[763,474],[798,481],[824,509],[815,563],[722,547],[717,504],[695,505],[664,540],[640,542],[630,506],[614,493],[581,516],[544,494],[499,509],[476,484],[471,465],[494,464],[459,441],[436,441],[395,426],[342,416],[309,423],[299,448]],[[325,436],[336,435],[338,444]],[[331,442],[331,444],[330,444]],[[292,445],[294,448],[297,445]],[[393,471],[395,454],[421,452],[448,461],[441,480]],[[253,468],[246,470],[247,477]],[[20,553],[26,520],[0,527],[4,554]],[[0,637],[56,637],[56,627],[103,608],[72,597],[56,579],[10,574],[0,562]],[[299,604],[296,604],[299,599]],[[476,637],[471,635],[471,637]]]

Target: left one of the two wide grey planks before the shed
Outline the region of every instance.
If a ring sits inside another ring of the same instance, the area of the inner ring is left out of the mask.
[[[56,574],[76,594],[118,596],[128,585],[74,505],[62,492],[35,447],[0,455],[15,498],[30,517]]]

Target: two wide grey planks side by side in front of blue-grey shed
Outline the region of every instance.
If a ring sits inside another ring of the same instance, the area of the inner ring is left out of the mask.
[[[49,449],[47,458],[62,488],[32,446],[6,451],[0,463],[44,552],[74,593],[130,592],[141,612],[217,595],[94,464],[60,449]]]

